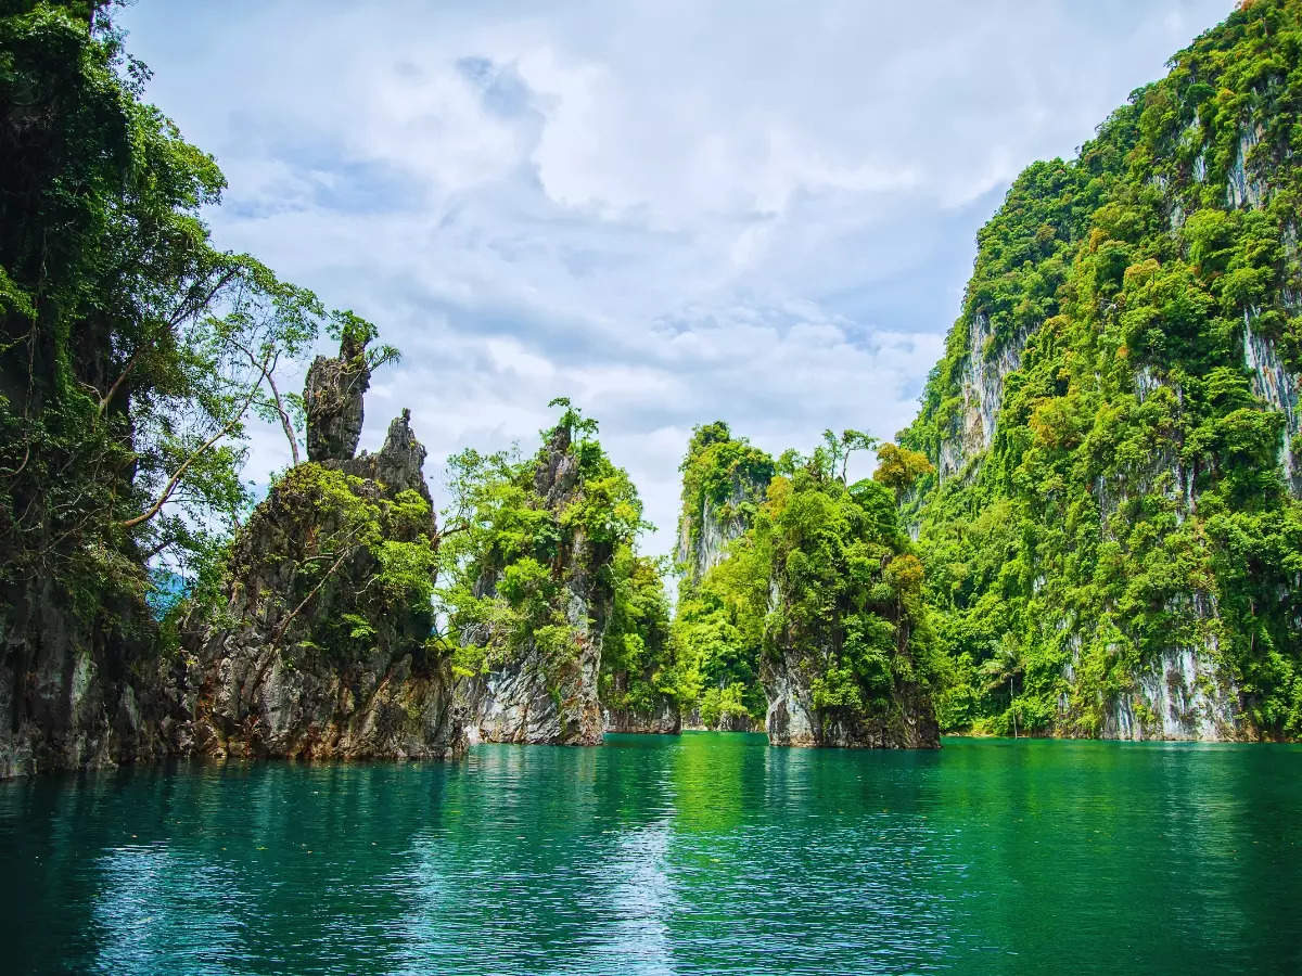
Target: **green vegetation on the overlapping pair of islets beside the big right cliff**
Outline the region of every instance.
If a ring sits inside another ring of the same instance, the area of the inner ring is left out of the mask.
[[[852,453],[874,448],[859,431],[827,431],[809,455],[775,462],[723,422],[694,431],[672,639],[682,700],[703,725],[762,722],[784,669],[809,675],[828,717],[881,713],[897,685],[939,679],[922,563],[897,517],[898,495],[931,466],[887,444],[874,478],[849,483]],[[697,560],[702,547],[711,558]]]

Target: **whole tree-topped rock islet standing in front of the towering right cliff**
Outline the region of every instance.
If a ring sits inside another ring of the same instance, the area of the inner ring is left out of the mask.
[[[923,570],[896,500],[798,471],[760,511],[768,570],[762,679],[773,746],[939,748]]]

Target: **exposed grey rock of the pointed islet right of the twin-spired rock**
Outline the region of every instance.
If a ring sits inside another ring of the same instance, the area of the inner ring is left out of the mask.
[[[572,432],[556,427],[539,453],[533,488],[536,505],[560,521],[583,495]],[[562,541],[556,566],[562,575],[560,616],[564,629],[512,635],[483,626],[462,640],[490,648],[490,666],[467,679],[461,698],[471,716],[470,737],[484,742],[596,746],[604,727],[598,701],[602,642],[615,600],[608,582],[613,550],[577,527]],[[483,599],[496,592],[496,571],[475,586]]]

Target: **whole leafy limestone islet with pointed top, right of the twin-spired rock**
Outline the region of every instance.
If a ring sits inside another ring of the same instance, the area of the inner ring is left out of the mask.
[[[452,626],[471,738],[602,742],[602,649],[615,605],[615,557],[631,544],[641,504],[628,476],[566,410],[531,462],[478,479],[460,536]],[[575,433],[581,435],[575,439]]]

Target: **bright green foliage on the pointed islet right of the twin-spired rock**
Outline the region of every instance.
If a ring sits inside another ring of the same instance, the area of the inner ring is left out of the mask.
[[[453,500],[444,513],[437,600],[461,644],[453,658],[460,674],[483,674],[533,647],[561,695],[578,664],[579,631],[592,623],[568,616],[575,588],[615,600],[616,660],[631,661],[634,642],[650,640],[659,623],[630,550],[646,526],[637,491],[598,442],[596,422],[568,400],[552,406],[564,411],[535,457],[467,449],[448,459]],[[548,488],[548,474],[562,468],[573,481]],[[644,679],[658,681],[637,681]]]

